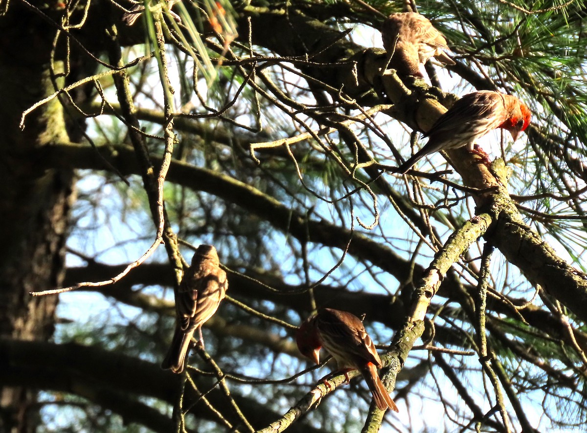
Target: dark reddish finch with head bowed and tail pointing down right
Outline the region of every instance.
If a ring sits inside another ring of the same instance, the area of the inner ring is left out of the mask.
[[[323,308],[301,324],[296,343],[302,355],[316,364],[320,363],[320,348],[324,347],[335,358],[340,371],[359,370],[377,407],[380,410],[389,407],[399,412],[377,375],[377,368],[382,367],[381,359],[359,317],[346,311]]]

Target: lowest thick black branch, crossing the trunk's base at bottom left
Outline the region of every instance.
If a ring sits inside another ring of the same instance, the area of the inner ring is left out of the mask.
[[[174,404],[180,390],[182,377],[164,371],[158,365],[147,361],[112,353],[98,347],[80,346],[78,344],[53,344],[16,340],[0,340],[0,383],[9,386],[24,386],[42,390],[62,391],[87,398],[96,404],[107,404],[114,412],[116,402],[124,402],[120,415],[129,415],[128,411],[136,409],[135,398],[139,396],[154,397],[168,404]],[[213,384],[206,377],[192,375],[193,380],[207,390]],[[124,398],[124,395],[127,397]],[[129,395],[134,397],[129,397]],[[113,400],[107,403],[107,398]],[[278,414],[259,405],[257,400],[245,398],[232,393],[239,407],[254,425],[265,425],[279,417]],[[188,407],[197,400],[191,388],[185,388],[184,405]],[[214,407],[222,408],[226,404],[220,391],[207,394]],[[123,400],[120,400],[123,399]],[[204,404],[194,405],[190,413],[196,417],[216,421],[216,417]],[[134,414],[133,421],[156,428],[168,425],[163,418],[149,413],[141,417]],[[223,415],[237,425],[239,420],[230,411]],[[168,419],[170,421],[170,418]],[[171,431],[171,430],[167,430]],[[319,430],[305,423],[299,423],[292,431],[315,432]]]

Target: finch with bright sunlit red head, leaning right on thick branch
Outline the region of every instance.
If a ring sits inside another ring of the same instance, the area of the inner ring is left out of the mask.
[[[434,122],[424,134],[429,137],[426,146],[400,165],[399,172],[406,174],[420,158],[434,152],[467,145],[473,149],[477,138],[495,128],[507,129],[515,141],[528,127],[530,117],[528,107],[515,96],[492,90],[465,94]]]

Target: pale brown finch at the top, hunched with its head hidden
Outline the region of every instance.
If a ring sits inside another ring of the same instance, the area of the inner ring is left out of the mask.
[[[416,12],[392,13],[383,22],[381,31],[383,46],[391,57],[389,66],[400,75],[423,77],[420,63],[424,65],[430,57],[448,65],[453,59],[442,33],[428,19]]]

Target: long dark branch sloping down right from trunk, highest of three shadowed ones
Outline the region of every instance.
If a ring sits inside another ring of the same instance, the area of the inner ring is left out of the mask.
[[[134,153],[130,147],[100,147],[99,151],[122,174],[137,173],[138,168],[134,160]],[[102,158],[97,157],[95,151],[88,146],[73,143],[54,144],[44,156],[49,167],[65,166],[107,170]],[[159,163],[158,158],[153,158],[153,161]],[[217,195],[228,202],[237,204],[252,214],[265,219],[275,228],[294,235],[300,241],[321,243],[324,246],[339,249],[346,249],[350,241],[348,248],[350,255],[372,262],[373,265],[386,270],[400,281],[406,280],[410,275],[409,262],[390,248],[368,238],[365,234],[340,228],[324,220],[308,219],[305,215],[293,211],[275,198],[228,175],[206,168],[194,167],[180,161],[172,161],[167,180],[193,188],[194,191],[205,191]]]

